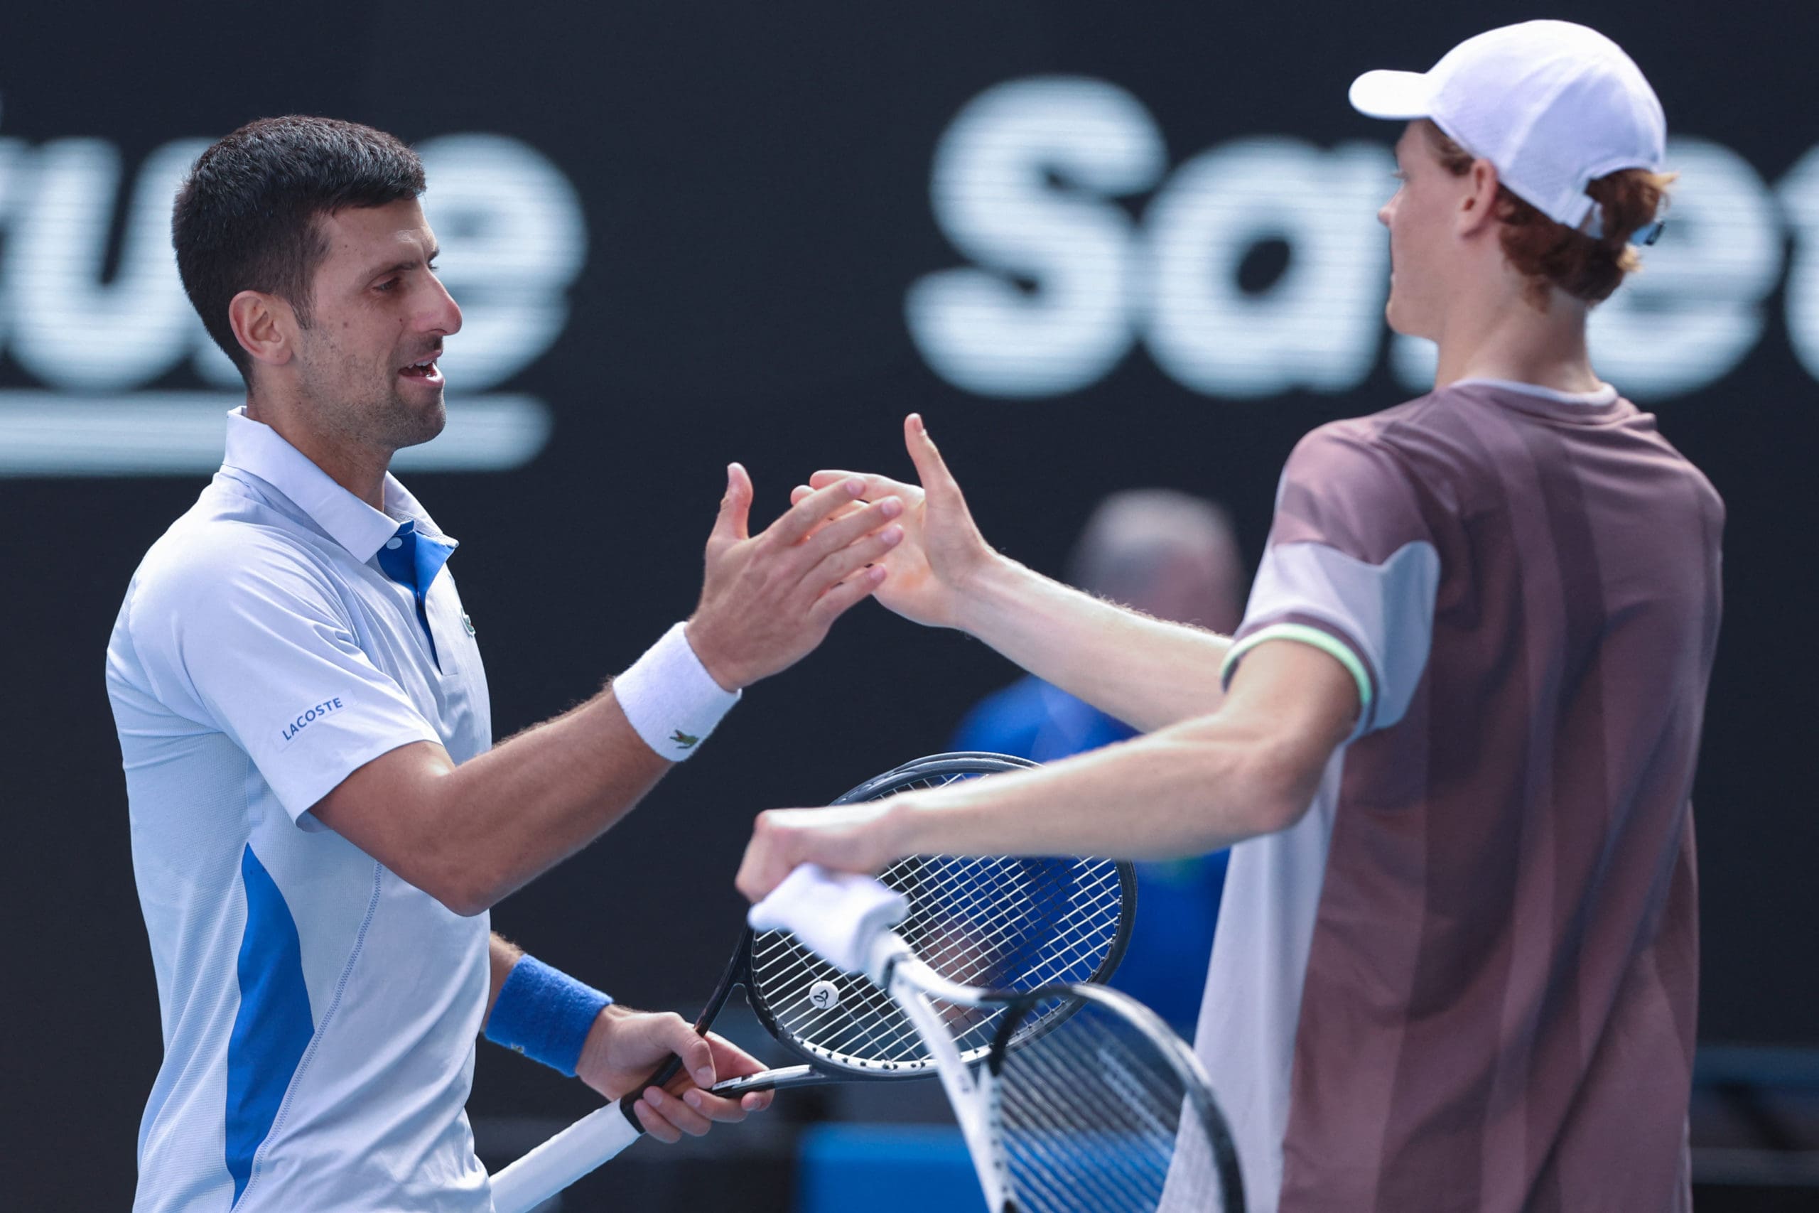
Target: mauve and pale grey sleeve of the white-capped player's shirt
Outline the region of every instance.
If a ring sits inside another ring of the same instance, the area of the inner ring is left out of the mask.
[[[1357,682],[1353,738],[1390,727],[1426,669],[1439,580],[1408,471],[1368,435],[1322,426],[1282,469],[1270,546],[1222,678],[1230,686],[1266,640],[1308,644]]]

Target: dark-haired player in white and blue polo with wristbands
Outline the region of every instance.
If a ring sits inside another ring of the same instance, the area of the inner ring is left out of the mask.
[[[486,1213],[462,1111],[482,1024],[609,1097],[678,1053],[684,1075],[637,1106],[664,1140],[768,1102],[697,1089],[757,1064],[524,957],[487,907],[875,589],[900,502],[804,538],[853,502],[842,484],[748,536],[733,466],[686,626],[493,747],[457,544],[387,473],[442,429],[437,358],[460,329],[422,189],[389,135],[275,118],[202,153],[176,198],[184,287],[247,402],[107,646],[164,1018],[146,1213]]]

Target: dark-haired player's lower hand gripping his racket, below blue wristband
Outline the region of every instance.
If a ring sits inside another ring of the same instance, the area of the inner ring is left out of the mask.
[[[660,1091],[646,1091],[633,1104],[644,1131],[657,1140],[677,1142],[684,1133],[700,1137],[715,1122],[744,1120],[746,1113],[769,1108],[769,1091],[729,1100],[702,1089],[719,1078],[755,1075],[764,1066],[713,1033],[697,1035],[688,1020],[669,1011],[629,1011],[620,1006],[600,1011],[582,1046],[575,1075],[606,1098],[618,1098],[629,1095],[671,1055],[682,1058],[677,1077]]]

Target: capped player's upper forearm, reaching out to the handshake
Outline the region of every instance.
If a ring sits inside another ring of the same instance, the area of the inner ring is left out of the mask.
[[[970,635],[1142,731],[1210,715],[1224,698],[1226,637],[1150,618],[1002,556],[966,586],[960,611]]]

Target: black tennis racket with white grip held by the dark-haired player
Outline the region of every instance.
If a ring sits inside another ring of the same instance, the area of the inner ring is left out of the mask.
[[[1006,755],[933,755],[869,778],[833,804],[1031,766]],[[931,971],[1010,989],[1104,980],[1124,957],[1137,907],[1131,867],[1108,860],[919,855],[899,860],[880,880],[904,897],[897,933]],[[937,1073],[922,1037],[882,989],[828,964],[786,931],[748,927],[740,935],[695,1020],[697,1031],[708,1031],[735,987],[744,987],[759,1022],[800,1064],[728,1078],[713,1086],[715,1095],[737,1098],[746,1091]],[[953,1004],[944,1015],[957,1048],[984,1057],[1004,1009]],[[1046,1031],[1046,1022],[1030,1020],[1020,1031]],[[644,1088],[662,1086],[678,1068],[680,1060],[671,1060],[638,1091],[582,1117],[504,1168],[493,1177],[497,1213],[526,1213],[635,1142],[644,1126],[633,1104]]]

